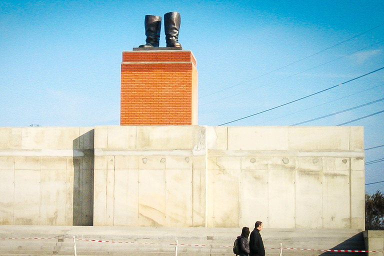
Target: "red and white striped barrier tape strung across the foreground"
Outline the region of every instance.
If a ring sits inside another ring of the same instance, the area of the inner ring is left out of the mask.
[[[0,237],[0,239],[69,239],[67,237]],[[106,241],[106,240],[96,240],[96,239],[82,239],[75,238],[76,240],[81,241],[91,241],[91,242],[105,242],[105,243],[136,243],[136,244],[157,244],[157,245],[176,245],[176,243],[155,243],[155,242],[128,242],[128,241]],[[191,243],[177,243],[177,245],[185,246],[202,246],[202,247],[225,247],[231,248],[232,246],[226,245],[205,245],[205,244],[191,244]],[[302,248],[291,248],[291,247],[265,247],[265,249],[291,249],[291,250],[310,250],[310,251],[332,251],[332,252],[383,252],[382,250],[329,250],[329,249],[302,249]]]

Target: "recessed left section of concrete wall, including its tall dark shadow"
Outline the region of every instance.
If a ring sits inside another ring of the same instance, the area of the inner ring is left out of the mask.
[[[91,225],[93,128],[0,127],[0,224]]]

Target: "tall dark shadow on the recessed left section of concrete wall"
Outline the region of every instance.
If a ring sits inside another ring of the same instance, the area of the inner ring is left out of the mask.
[[[93,225],[94,129],[73,140],[72,225]]]

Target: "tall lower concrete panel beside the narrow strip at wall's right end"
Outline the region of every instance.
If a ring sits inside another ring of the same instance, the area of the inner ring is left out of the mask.
[[[323,171],[322,226],[328,228],[351,226],[348,170]]]

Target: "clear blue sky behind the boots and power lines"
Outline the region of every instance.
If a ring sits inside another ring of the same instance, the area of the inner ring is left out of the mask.
[[[145,14],[168,11],[180,12],[179,42],[197,59],[201,125],[384,67],[383,0],[0,1],[0,126],[118,125],[121,52],[144,43]],[[384,69],[227,125],[291,125],[382,98]],[[301,125],[383,109],[384,100]],[[384,113],[346,125],[364,126],[365,148],[384,145]],[[384,158],[384,147],[365,156]],[[365,172],[366,183],[384,180],[384,162]]]

